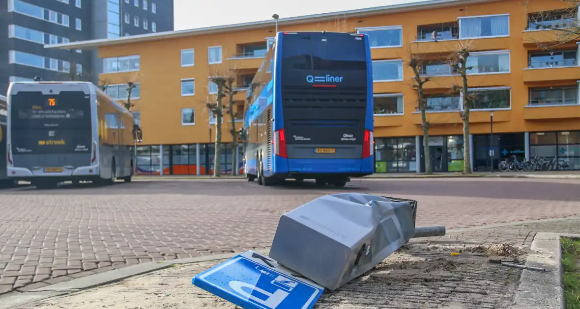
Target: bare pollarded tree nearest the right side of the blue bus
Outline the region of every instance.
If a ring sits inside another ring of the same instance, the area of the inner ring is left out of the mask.
[[[423,84],[429,82],[429,76],[422,75],[422,65],[423,57],[420,54],[413,54],[410,50],[408,51],[409,61],[407,65],[413,69],[415,76],[413,77],[413,89],[417,90],[418,101],[417,108],[421,112],[421,128],[423,130],[423,157],[425,158],[425,173],[433,174],[433,168],[431,167],[431,156],[429,153],[429,127],[430,123],[427,122],[427,116],[425,111],[427,109],[427,98],[425,97],[425,92],[423,91]]]

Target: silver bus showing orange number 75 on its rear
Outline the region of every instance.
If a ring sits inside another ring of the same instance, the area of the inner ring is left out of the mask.
[[[142,132],[131,112],[90,82],[8,87],[8,177],[37,188],[131,182]]]

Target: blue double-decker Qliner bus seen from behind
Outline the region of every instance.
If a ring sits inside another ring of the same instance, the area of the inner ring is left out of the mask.
[[[343,187],[374,172],[368,36],[278,32],[252,81],[242,138],[248,181]]]

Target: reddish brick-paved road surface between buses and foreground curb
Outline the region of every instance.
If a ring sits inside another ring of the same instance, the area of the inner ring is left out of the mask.
[[[243,180],[2,190],[0,293],[135,263],[263,249],[281,214],[333,192],[415,198],[418,225],[449,229],[579,215],[579,188],[569,180],[397,179],[353,181],[345,190]],[[532,230],[502,231],[494,241],[525,243]],[[470,233],[440,241],[469,241]]]

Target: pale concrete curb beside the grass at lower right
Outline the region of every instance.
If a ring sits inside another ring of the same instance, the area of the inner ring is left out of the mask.
[[[550,272],[524,269],[510,308],[564,308],[560,237],[566,236],[580,237],[580,234],[536,234],[525,265],[546,268]]]

